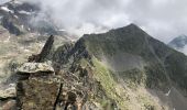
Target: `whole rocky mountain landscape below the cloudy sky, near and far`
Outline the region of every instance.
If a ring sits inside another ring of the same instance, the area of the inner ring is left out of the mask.
[[[166,45],[132,23],[73,42],[35,14],[0,6],[2,110],[187,110],[187,56],[174,50],[186,36]]]

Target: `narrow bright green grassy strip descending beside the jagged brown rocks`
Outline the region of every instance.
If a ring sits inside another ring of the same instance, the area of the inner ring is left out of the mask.
[[[107,97],[117,101],[119,107],[128,109],[128,95],[124,92],[123,88],[121,88],[114,78],[111,75],[111,70],[109,70],[103,64],[101,64],[98,59],[92,58],[95,65],[95,78],[100,81],[103,87]]]

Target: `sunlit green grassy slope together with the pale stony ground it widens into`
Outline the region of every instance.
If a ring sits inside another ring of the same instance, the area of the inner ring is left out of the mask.
[[[128,87],[123,87],[122,84],[114,79],[112,72],[107,68],[105,64],[99,62],[97,58],[94,58],[92,62],[95,65],[95,78],[101,82],[107,96],[116,100],[119,108],[122,110],[166,109],[166,107],[160,106],[158,100],[152,97],[145,88],[136,86],[136,81],[131,80],[130,85],[127,84]]]

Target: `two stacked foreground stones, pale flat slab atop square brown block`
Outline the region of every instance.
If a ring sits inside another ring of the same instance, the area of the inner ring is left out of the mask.
[[[16,84],[16,107],[23,110],[53,110],[62,90],[52,66],[44,63],[23,64],[18,72],[28,78]]]

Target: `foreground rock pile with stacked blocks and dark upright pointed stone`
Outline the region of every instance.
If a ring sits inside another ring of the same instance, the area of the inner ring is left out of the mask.
[[[81,110],[86,95],[77,94],[72,84],[55,75],[51,63],[43,61],[52,45],[53,36],[41,54],[29,57],[28,63],[18,67],[16,85],[0,90],[0,110]]]

